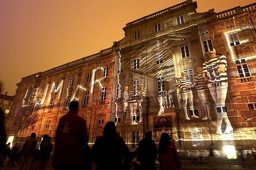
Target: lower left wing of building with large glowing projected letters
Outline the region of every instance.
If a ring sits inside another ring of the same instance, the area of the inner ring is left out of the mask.
[[[113,77],[112,48],[50,70],[23,77],[6,122],[8,138],[24,142],[31,133],[44,134],[54,142],[58,120],[69,102],[80,104],[79,116],[87,122],[89,142],[102,135],[110,120]],[[39,142],[39,141],[38,141]]]

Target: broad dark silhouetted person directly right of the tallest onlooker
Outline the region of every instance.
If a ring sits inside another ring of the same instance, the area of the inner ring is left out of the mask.
[[[96,170],[121,170],[121,155],[130,159],[130,151],[122,137],[117,135],[115,123],[107,122],[103,135],[96,139],[92,147]]]

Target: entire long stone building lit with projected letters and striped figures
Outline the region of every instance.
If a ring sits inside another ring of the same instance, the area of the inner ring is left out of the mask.
[[[131,150],[148,128],[156,143],[169,133],[183,157],[206,156],[209,147],[219,156],[251,150],[255,5],[197,13],[187,0],[127,23],[112,48],[24,77],[7,132],[17,142],[32,132],[54,137],[68,103],[78,100],[90,144],[111,120]]]

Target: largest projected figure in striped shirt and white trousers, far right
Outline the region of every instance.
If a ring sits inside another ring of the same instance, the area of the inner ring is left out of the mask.
[[[228,87],[226,56],[216,56],[215,50],[210,51],[208,54],[209,61],[203,64],[203,76],[216,105],[216,134],[222,134],[221,124],[223,120],[226,123],[226,130],[224,133],[231,133],[233,132],[233,128],[227,117],[227,108],[225,106]]]

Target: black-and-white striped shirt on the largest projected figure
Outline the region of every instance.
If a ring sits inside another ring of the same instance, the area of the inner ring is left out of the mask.
[[[225,72],[219,72],[218,68],[225,67]],[[227,59],[226,56],[217,56],[209,59],[203,64],[203,77],[208,78],[207,84],[211,82],[227,82]]]

